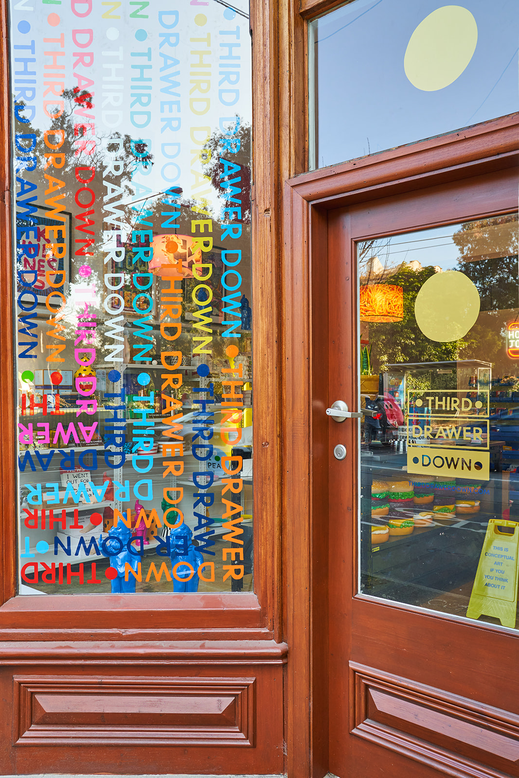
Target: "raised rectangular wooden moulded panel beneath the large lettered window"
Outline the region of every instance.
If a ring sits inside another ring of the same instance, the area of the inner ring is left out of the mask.
[[[16,745],[253,747],[255,678],[16,675]]]

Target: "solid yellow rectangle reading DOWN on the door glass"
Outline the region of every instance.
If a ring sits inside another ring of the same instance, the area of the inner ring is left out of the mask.
[[[409,446],[407,450],[408,473],[420,475],[447,475],[449,478],[475,478],[488,481],[490,470],[489,451]]]

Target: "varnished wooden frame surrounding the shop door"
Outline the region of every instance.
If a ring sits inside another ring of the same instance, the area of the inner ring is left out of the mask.
[[[328,516],[332,521],[333,511],[325,408],[333,333],[328,332],[325,303],[327,212],[516,166],[518,128],[514,114],[286,181],[282,310],[289,314],[283,331],[283,513],[290,646],[288,765],[289,775],[297,778],[322,778],[329,765],[328,636],[335,604],[328,603]],[[353,701],[345,699],[347,704]]]

